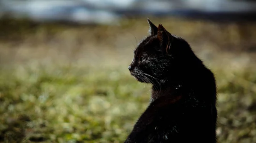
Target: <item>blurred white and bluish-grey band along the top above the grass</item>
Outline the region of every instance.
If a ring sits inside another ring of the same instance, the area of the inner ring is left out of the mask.
[[[126,15],[256,14],[254,0],[0,0],[0,15],[35,21],[118,23]],[[255,15],[254,15],[255,16]],[[224,17],[231,18],[231,17]],[[256,19],[256,18],[255,18]]]

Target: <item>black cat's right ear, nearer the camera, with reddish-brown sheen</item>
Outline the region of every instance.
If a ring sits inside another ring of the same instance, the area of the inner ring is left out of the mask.
[[[166,52],[171,48],[173,36],[163,27],[162,24],[158,25],[157,38],[160,40],[161,47],[165,48]]]

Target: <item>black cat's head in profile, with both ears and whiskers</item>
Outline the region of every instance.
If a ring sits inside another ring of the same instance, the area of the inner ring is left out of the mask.
[[[157,27],[149,19],[148,24],[150,34],[138,43],[128,69],[138,81],[153,83],[181,70],[179,66],[188,60],[192,50],[184,39],[170,34],[162,24]]]

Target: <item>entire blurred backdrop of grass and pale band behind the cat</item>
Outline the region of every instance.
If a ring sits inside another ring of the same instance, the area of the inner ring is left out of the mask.
[[[215,74],[219,143],[256,143],[256,0],[0,0],[0,142],[122,143],[149,18]]]

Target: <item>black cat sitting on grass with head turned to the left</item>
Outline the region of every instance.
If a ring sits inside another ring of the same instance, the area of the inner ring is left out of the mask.
[[[151,101],[125,143],[216,143],[216,84],[182,38],[148,20],[150,35],[128,67],[151,83]]]

